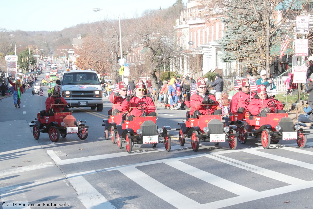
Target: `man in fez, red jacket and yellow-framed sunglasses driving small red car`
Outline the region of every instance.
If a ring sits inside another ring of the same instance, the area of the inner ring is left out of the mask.
[[[145,84],[143,82],[136,84],[135,92],[136,96],[127,95],[126,100],[121,105],[124,112],[129,111],[128,120],[132,120],[133,117],[156,116],[154,102],[151,97],[145,96]],[[142,104],[139,105],[140,103]]]

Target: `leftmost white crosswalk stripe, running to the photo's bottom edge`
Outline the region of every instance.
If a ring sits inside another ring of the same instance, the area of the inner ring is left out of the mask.
[[[102,196],[83,176],[69,178],[81,203],[89,209],[116,208]]]

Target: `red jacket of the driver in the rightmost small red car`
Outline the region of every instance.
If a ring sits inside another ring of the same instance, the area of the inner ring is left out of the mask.
[[[261,112],[261,108],[268,107],[269,105],[267,103],[272,99],[273,97],[267,97],[266,99],[263,100],[263,99],[260,99],[260,97],[256,94],[251,100],[248,110],[250,111],[252,115],[258,115]],[[277,103],[276,107],[279,110],[283,109],[284,105],[281,102],[275,101],[275,103]],[[275,108],[274,107],[270,107],[270,108],[272,110],[270,113],[275,113]]]

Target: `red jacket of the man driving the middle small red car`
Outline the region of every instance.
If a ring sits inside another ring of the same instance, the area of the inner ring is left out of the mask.
[[[218,107],[218,102],[216,102],[216,98],[213,94],[206,93],[205,96],[209,96],[209,99],[213,99],[214,105],[209,105],[209,112],[207,110],[206,106],[202,106],[201,102],[203,98],[199,95],[197,92],[196,94],[193,94],[190,97],[190,115],[192,115],[196,110],[198,110],[203,115],[213,114],[215,111],[215,108]]]

